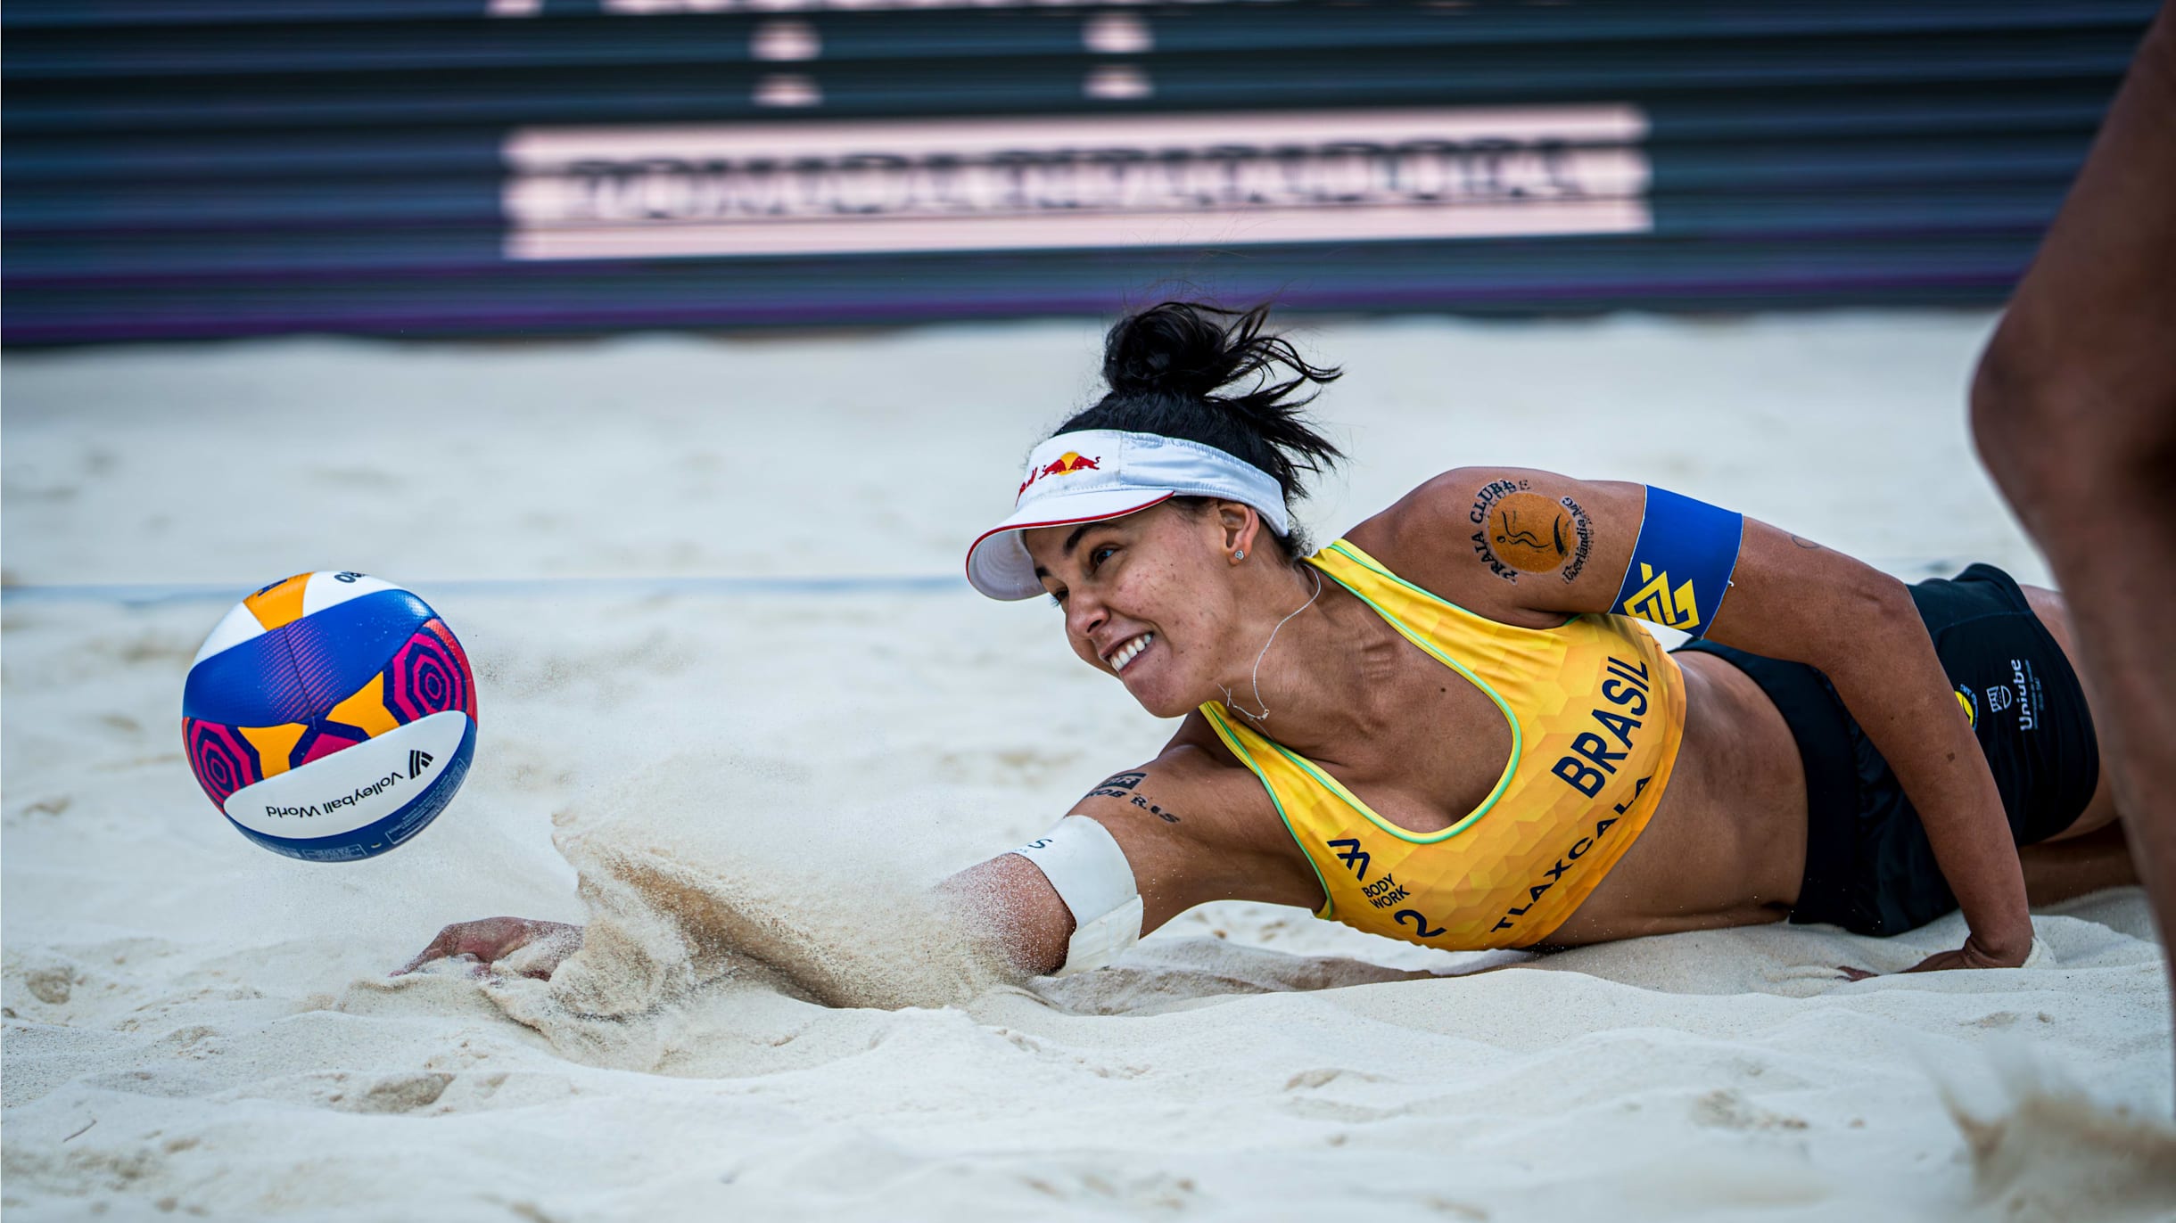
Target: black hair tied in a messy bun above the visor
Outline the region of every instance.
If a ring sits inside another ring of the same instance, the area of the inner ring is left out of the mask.
[[[1266,302],[1238,311],[1177,300],[1121,318],[1103,337],[1110,392],[1058,433],[1121,429],[1216,446],[1269,472],[1290,511],[1308,496],[1301,472],[1321,472],[1345,457],[1301,413],[1343,370],[1310,366],[1290,339],[1262,331],[1266,320]],[[1247,381],[1251,385],[1225,392]],[[1308,385],[1314,390],[1290,398]],[[1175,503],[1199,509],[1208,498]],[[1271,538],[1286,557],[1308,551],[1297,527],[1290,535],[1271,529]]]

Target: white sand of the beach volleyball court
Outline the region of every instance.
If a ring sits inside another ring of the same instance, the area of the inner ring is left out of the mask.
[[[1985,313],[1319,322],[1356,464],[1649,479],[1902,575],[2041,579],[1971,461]],[[1210,905],[1012,984],[923,901],[1169,725],[951,583],[1090,324],[13,355],[0,1206],[20,1219],[2169,1219],[2137,890],[2035,968],[1760,927],[1545,960]],[[307,568],[407,581],[477,768],[400,851],[250,847],[189,655]],[[733,588],[855,575],[860,585]],[[914,581],[934,579],[934,581]],[[115,583],[128,590],[118,590]],[[74,588],[74,590],[57,590]],[[553,981],[390,979],[444,923],[596,921]],[[827,1005],[833,1003],[833,1005]],[[846,1003],[846,1005],[840,1005]]]

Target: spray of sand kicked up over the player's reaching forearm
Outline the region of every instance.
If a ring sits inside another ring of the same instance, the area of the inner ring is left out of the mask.
[[[912,844],[914,805],[812,812],[762,762],[672,755],[561,820],[583,944],[548,981],[520,977],[516,953],[490,995],[568,1055],[659,1068],[714,1027],[749,1036],[755,1012],[934,1008],[1018,984],[992,914],[934,888],[966,862]]]

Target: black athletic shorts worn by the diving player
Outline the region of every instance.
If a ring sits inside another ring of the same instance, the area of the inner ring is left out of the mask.
[[[2100,783],[2078,675],[2017,581],[1993,566],[1911,588],[1934,653],[1987,753],[2017,844],[2067,829]],[[1682,648],[1736,664],[1791,725],[1806,764],[1806,877],[1795,923],[1902,934],[1956,910],[1919,812],[1819,670],[1715,642]]]

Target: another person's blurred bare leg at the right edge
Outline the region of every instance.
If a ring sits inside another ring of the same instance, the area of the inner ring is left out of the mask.
[[[1971,424],[2054,568],[2163,947],[2176,938],[2176,0],[1980,357]],[[2176,973],[2176,953],[2172,953]]]

